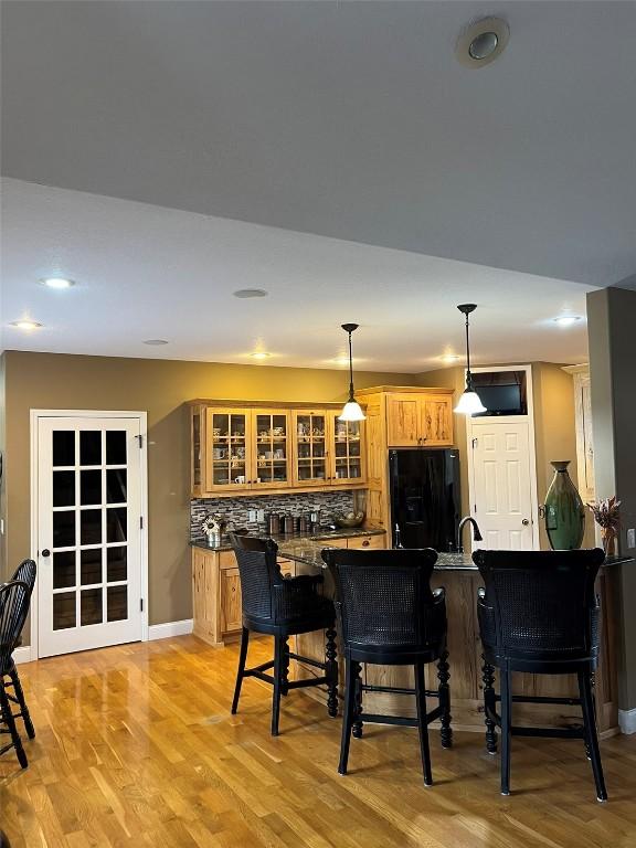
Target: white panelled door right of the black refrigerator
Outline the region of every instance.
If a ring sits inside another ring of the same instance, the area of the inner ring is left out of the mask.
[[[533,550],[533,453],[527,421],[473,426],[473,516],[488,550]]]

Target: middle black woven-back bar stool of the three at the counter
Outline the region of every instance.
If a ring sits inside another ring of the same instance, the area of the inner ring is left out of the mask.
[[[344,646],[344,714],[340,744],[340,774],[347,773],[351,735],[361,736],[363,722],[417,728],[424,783],[433,783],[428,724],[442,722],[442,745],[451,748],[451,696],[446,650],[446,598],[443,589],[431,591],[437,553],[424,550],[361,551],[328,549],[322,559],[336,583],[336,611]],[[439,686],[427,691],[424,666],[437,661]],[[413,666],[415,689],[368,686],[361,664]],[[415,695],[417,718],[362,711],[364,692]],[[426,697],[438,704],[426,711]]]

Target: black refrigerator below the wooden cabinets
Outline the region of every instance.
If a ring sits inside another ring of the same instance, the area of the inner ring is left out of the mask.
[[[389,475],[394,540],[398,526],[404,548],[454,551],[460,510],[457,449],[390,451]]]

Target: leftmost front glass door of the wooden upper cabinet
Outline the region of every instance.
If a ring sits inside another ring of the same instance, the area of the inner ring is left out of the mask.
[[[251,410],[205,410],[205,489],[241,490],[252,481]]]

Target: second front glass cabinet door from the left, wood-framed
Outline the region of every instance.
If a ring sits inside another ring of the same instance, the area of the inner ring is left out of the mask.
[[[278,488],[292,483],[289,413],[285,410],[255,410],[256,470],[253,488]]]

